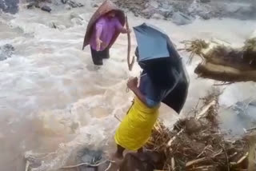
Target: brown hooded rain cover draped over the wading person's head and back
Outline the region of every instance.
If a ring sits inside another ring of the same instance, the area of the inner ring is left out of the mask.
[[[90,44],[90,36],[93,34],[94,31],[94,24],[97,22],[98,18],[102,17],[103,15],[109,13],[111,10],[115,10],[117,12],[116,16],[122,26],[125,25],[125,14],[123,13],[122,10],[118,9],[117,6],[114,5],[113,2],[110,2],[110,0],[106,0],[105,2],[102,3],[102,6],[98,7],[98,10],[94,13],[94,15],[90,18],[90,22],[87,25],[87,30],[86,30],[86,35],[83,41],[83,46],[82,50]],[[114,37],[112,38],[109,47],[111,47],[116,39],[118,38],[118,35],[120,32],[116,31],[114,34]]]

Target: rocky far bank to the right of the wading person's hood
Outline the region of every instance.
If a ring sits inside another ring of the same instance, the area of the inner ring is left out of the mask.
[[[195,18],[256,18],[256,3],[250,0],[116,0],[115,3],[135,16],[171,20],[177,25],[189,24]]]

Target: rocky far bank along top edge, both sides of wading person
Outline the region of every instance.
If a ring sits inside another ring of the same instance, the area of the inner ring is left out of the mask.
[[[21,0],[22,1],[22,0]],[[24,0],[25,1],[25,0]],[[165,19],[177,25],[186,25],[196,18],[236,18],[242,20],[256,18],[256,1],[236,0],[113,0],[126,12],[143,18]],[[27,8],[39,8],[50,12],[56,6],[67,10],[82,7],[78,0],[26,0]],[[94,1],[91,6],[98,7],[101,0]],[[15,14],[18,12],[18,0],[0,0],[0,10]]]

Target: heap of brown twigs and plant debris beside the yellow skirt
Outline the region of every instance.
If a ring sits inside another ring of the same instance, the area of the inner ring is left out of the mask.
[[[146,149],[165,154],[163,170],[247,170],[248,141],[225,139],[216,121],[217,98],[204,102],[195,117],[178,121],[173,130],[158,122]]]

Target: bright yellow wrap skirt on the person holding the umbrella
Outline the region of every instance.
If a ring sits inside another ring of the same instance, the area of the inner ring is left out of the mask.
[[[149,108],[135,97],[134,104],[115,133],[115,142],[129,150],[142,148],[158,119],[159,106]]]

